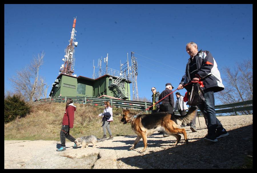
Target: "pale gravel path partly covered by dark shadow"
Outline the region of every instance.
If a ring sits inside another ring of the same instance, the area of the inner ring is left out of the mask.
[[[66,141],[67,150],[56,152],[60,141],[4,141],[5,169],[148,169],[148,168],[235,168],[244,163],[245,156],[252,156],[252,115],[217,117],[229,136],[216,143],[203,141],[207,128],[203,117],[196,119],[197,132],[186,126],[189,143],[182,135],[176,138],[153,134],[148,137],[148,148],[143,149],[142,139],[136,148],[128,151],[136,135],[117,136],[113,140],[97,143],[93,148],[73,149],[73,142]],[[130,124],[127,124],[130,125]],[[65,163],[65,164],[63,164]]]

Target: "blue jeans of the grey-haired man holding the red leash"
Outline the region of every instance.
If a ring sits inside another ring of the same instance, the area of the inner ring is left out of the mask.
[[[206,93],[203,93],[205,102],[202,104],[198,104],[196,107],[200,109],[200,111],[204,114],[204,116],[208,120],[208,134],[214,135],[216,130],[221,131],[223,129],[222,124],[220,121],[216,118],[216,113],[214,109],[214,92],[208,91]]]

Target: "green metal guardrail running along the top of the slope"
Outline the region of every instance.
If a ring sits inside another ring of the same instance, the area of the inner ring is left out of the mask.
[[[53,98],[43,98],[38,101],[40,102],[66,102],[67,98],[71,98],[74,103],[81,104],[94,104],[94,105],[103,105],[105,101],[109,101],[111,106],[116,106],[119,108],[132,108],[137,110],[146,110],[149,108],[152,103],[151,102],[137,102],[137,101],[129,101],[129,100],[116,100],[116,99],[108,99],[108,98],[92,98],[92,97],[53,97]],[[216,114],[222,113],[230,113],[230,112],[239,112],[252,110],[252,100],[247,100],[243,102],[236,102],[230,104],[216,105],[215,111]],[[250,105],[250,106],[245,106]],[[241,106],[241,107],[236,107]],[[150,113],[151,111],[145,111],[146,113]],[[179,114],[178,111],[175,112]],[[200,110],[197,111],[197,114],[202,114]]]

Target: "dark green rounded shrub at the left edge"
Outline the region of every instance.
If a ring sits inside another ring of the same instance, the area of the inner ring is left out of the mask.
[[[19,95],[7,96],[5,98],[5,123],[22,118],[30,113],[30,106],[21,99]]]

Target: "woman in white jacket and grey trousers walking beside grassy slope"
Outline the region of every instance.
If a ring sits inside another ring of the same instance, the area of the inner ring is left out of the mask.
[[[106,129],[110,135],[110,137],[107,139],[113,139],[113,135],[112,135],[112,131],[110,129],[110,122],[113,121],[113,108],[110,105],[110,102],[105,102],[105,110],[102,114],[98,115],[99,117],[102,116],[102,122],[103,122],[103,131],[104,131],[104,135],[101,139],[107,139],[106,137]]]

